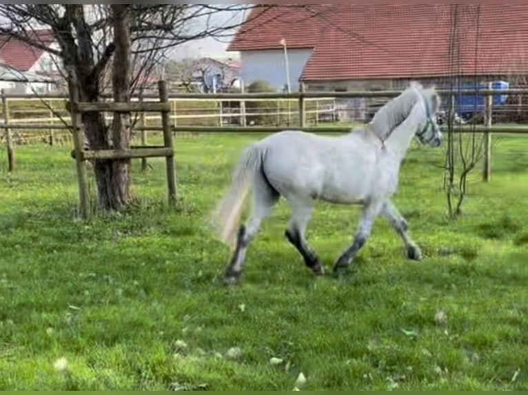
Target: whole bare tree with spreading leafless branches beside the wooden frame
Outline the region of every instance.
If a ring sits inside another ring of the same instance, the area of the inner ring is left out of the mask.
[[[227,37],[247,22],[242,13],[259,17],[273,6],[248,4],[2,4],[0,33],[8,34],[52,54],[65,78],[74,75],[79,98],[98,102],[112,84],[114,100],[130,100],[141,89],[160,59],[175,45],[207,36]],[[218,12],[231,12],[224,23],[214,22]],[[205,21],[205,23],[203,23]],[[199,22],[201,22],[199,24]],[[57,45],[41,40],[44,28]],[[128,149],[130,116],[115,114],[107,125],[103,114],[82,117],[90,149]],[[128,161],[95,160],[99,207],[117,210],[130,202]]]

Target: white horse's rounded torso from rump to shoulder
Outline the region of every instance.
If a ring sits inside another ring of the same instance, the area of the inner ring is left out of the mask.
[[[258,145],[265,153],[266,178],[286,197],[353,203],[365,200],[377,188],[378,154],[361,134],[335,138],[282,131]]]

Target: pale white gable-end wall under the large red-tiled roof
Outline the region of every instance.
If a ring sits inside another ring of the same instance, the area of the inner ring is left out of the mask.
[[[287,50],[292,92],[298,90],[298,80],[312,52],[311,49]],[[264,80],[276,89],[283,89],[286,84],[283,50],[241,51],[240,58],[241,76],[246,87],[256,80]]]

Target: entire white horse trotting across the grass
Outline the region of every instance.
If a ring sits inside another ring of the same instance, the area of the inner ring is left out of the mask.
[[[352,263],[378,215],[386,217],[403,239],[407,257],[422,259],[420,248],[407,233],[405,218],[390,197],[398,188],[400,163],[412,138],[416,136],[431,147],[440,146],[438,107],[440,96],[434,87],[411,83],[381,107],[364,129],[343,136],[287,130],[247,147],[234,170],[230,190],[214,215],[219,238],[234,250],[225,271],[226,282],[238,281],[247,247],[281,195],[292,207],[285,235],[316,275],[324,274],[323,265],[308,246],[305,234],[317,200],[363,206],[352,244],[338,258],[334,271]],[[239,226],[250,189],[252,213],[247,223]]]

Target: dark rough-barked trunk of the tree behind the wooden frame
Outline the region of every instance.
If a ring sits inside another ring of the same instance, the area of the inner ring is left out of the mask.
[[[94,61],[92,37],[85,23],[82,6],[68,5],[69,20],[74,24],[79,41],[78,50],[64,45],[68,61],[77,73],[79,98],[84,102],[98,102],[101,96],[100,79],[105,74],[104,67],[98,70]],[[112,82],[114,100],[129,101],[130,89],[130,17],[127,5],[112,5],[112,28],[114,41],[112,51]],[[110,46],[109,46],[110,48]],[[107,60],[110,60],[108,57]],[[97,72],[96,72],[97,70]],[[82,116],[85,136],[90,149],[128,149],[130,148],[130,115],[114,115],[111,136],[102,113],[85,113]],[[99,209],[105,211],[123,209],[130,203],[130,178],[128,160],[94,160],[94,174],[97,184]]]

